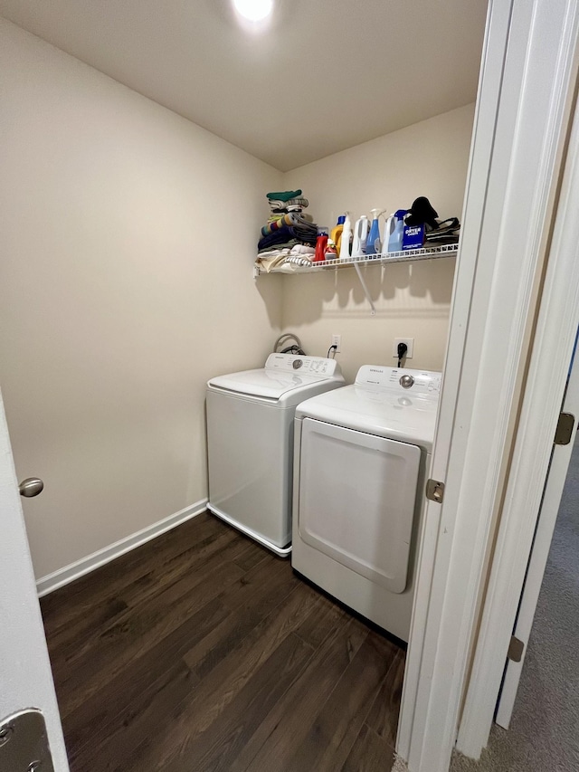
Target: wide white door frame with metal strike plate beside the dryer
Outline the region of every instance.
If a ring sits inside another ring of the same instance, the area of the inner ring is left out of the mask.
[[[411,772],[446,772],[457,739],[568,136],[578,29],[575,0],[489,5],[432,457],[432,478],[446,490],[426,509],[396,745]],[[463,752],[478,757],[484,729]]]

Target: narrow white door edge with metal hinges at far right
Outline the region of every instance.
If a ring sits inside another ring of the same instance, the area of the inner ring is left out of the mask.
[[[523,672],[528,638],[535,618],[536,604],[541,585],[543,584],[546,561],[549,555],[549,549],[551,548],[551,540],[553,538],[553,531],[555,530],[559,504],[565,487],[565,478],[571,460],[571,453],[573,453],[577,416],[579,416],[579,367],[577,366],[576,357],[574,357],[573,367],[567,383],[562,412],[574,416],[572,439],[568,444],[556,444],[553,446],[545,494],[537,519],[533,550],[529,558],[527,577],[525,585],[523,586],[517,622],[513,632],[517,639],[524,645],[523,653],[520,662],[514,662],[513,660],[507,661],[503,687],[498,698],[498,709],[495,720],[498,725],[504,727],[504,729],[508,729],[513,708],[515,707],[518,681]]]

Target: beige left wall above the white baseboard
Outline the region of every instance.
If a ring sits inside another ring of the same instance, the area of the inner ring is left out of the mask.
[[[2,387],[37,577],[207,495],[204,383],[257,367],[275,169],[0,20]]]

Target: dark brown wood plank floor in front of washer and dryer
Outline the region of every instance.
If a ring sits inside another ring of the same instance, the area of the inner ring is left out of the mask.
[[[203,514],[43,598],[72,772],[389,772],[404,653]]]

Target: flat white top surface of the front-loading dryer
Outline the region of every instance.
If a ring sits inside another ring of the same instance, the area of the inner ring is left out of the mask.
[[[431,451],[437,408],[438,396],[413,396],[355,384],[302,402],[296,417],[316,418]]]

